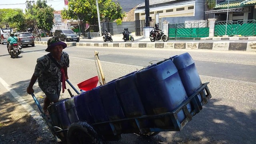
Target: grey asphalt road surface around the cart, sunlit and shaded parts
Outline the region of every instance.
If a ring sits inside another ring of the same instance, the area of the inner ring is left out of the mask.
[[[31,96],[26,94],[26,87],[36,59],[47,54],[45,49],[43,45],[23,48],[20,57],[12,59],[6,45],[0,45],[0,78],[36,111]],[[68,47],[64,51],[70,56],[68,76],[74,85],[97,75],[94,50],[99,52],[107,82],[148,66],[152,60],[189,52],[202,82],[210,82],[212,94],[209,103],[181,132],[161,132],[152,138],[123,134],[120,141],[109,144],[255,144],[255,52]],[[0,83],[1,89],[4,87]],[[36,84],[34,90],[36,96],[43,95]],[[0,96],[4,94],[0,91]],[[61,97],[68,97],[68,93]]]

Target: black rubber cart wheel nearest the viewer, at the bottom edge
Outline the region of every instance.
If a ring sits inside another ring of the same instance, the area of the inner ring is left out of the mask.
[[[74,122],[67,134],[68,144],[103,144],[97,132],[87,122]]]

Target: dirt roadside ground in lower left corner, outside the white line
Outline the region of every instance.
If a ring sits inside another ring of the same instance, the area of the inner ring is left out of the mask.
[[[47,128],[36,120],[12,97],[0,98],[0,144],[57,144]]]

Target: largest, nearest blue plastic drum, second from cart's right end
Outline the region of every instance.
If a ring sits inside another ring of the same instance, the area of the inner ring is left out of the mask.
[[[172,112],[188,98],[172,60],[140,70],[136,83],[147,114]],[[183,110],[178,112],[178,120],[182,122],[184,118]]]

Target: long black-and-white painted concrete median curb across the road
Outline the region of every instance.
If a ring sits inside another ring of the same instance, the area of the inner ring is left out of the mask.
[[[35,44],[47,44],[38,42]],[[239,50],[256,52],[256,41],[253,42],[66,42],[67,46],[114,47],[114,48],[165,48],[165,49],[200,49],[200,50]]]

